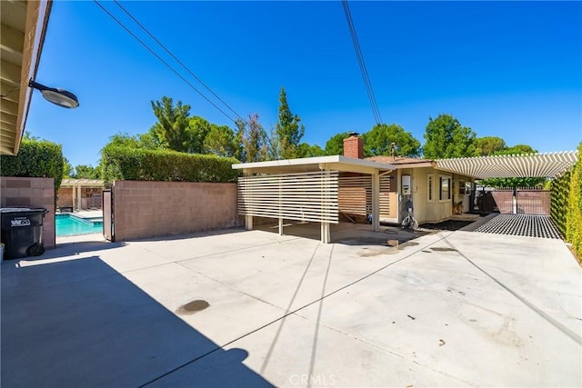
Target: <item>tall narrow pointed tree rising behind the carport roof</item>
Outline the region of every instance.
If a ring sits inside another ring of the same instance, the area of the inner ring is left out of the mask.
[[[279,95],[279,116],[275,126],[275,134],[280,148],[280,155],[284,159],[296,157],[296,148],[305,134],[303,124],[299,124],[301,118],[292,114],[287,104],[285,88],[281,88]]]

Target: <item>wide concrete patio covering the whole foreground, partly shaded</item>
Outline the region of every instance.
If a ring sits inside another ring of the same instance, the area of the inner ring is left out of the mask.
[[[3,386],[582,386],[561,240],[94,237],[2,263]]]

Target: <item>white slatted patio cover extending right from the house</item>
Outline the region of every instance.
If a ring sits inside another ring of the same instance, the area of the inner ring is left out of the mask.
[[[566,173],[578,159],[577,151],[548,154],[478,156],[437,159],[437,168],[454,174],[488,178],[554,178]]]

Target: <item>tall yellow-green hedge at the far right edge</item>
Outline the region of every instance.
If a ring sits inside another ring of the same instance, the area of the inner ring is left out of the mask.
[[[582,260],[582,143],[572,170],[552,181],[551,215],[574,253]]]

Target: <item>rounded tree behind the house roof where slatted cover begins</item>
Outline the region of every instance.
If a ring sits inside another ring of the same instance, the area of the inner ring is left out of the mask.
[[[423,154],[428,159],[475,156],[475,132],[450,114],[429,118]]]

